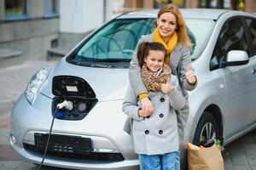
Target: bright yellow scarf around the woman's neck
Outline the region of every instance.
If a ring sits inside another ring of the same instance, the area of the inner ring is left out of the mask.
[[[166,42],[160,36],[160,33],[157,30],[157,28],[155,28],[154,31],[153,31],[153,41],[154,42],[160,42],[166,48],[165,63],[167,65],[169,65],[169,63],[170,63],[169,54],[172,53],[172,50],[174,48],[176,48],[176,46],[177,46],[177,32],[174,32],[172,34],[172,37],[170,38],[169,42],[166,44]]]

